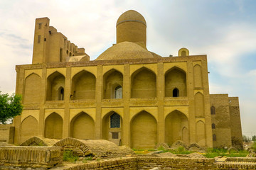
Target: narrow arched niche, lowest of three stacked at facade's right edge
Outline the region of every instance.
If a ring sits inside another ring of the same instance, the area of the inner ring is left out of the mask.
[[[206,146],[206,128],[201,120],[196,123],[196,142],[201,147]]]

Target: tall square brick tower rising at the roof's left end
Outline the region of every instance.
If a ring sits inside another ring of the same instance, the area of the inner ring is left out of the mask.
[[[49,18],[36,18],[32,64],[45,63],[48,55]]]

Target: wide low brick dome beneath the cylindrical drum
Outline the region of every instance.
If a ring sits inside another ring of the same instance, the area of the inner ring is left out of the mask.
[[[137,58],[154,58],[148,50],[134,42],[119,42],[105,50],[96,60],[125,60]]]

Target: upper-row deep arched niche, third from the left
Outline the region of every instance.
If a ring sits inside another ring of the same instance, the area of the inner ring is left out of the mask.
[[[72,79],[71,95],[73,100],[95,99],[96,78],[90,72],[82,70]]]

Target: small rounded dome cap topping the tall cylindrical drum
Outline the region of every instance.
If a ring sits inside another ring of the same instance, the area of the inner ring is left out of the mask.
[[[139,23],[144,23],[144,25],[146,26],[145,18],[142,16],[142,14],[140,14],[134,10],[126,11],[121,16],[119,16],[119,18],[117,20],[117,25],[119,23],[123,23],[123,22],[127,22],[127,21],[135,21],[135,22],[139,22]]]

